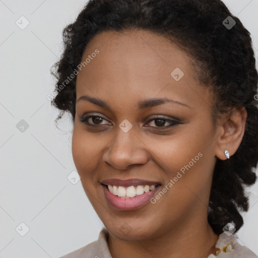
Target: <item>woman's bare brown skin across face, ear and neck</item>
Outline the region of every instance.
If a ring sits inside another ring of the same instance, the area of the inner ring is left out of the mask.
[[[233,108],[214,123],[211,94],[195,79],[190,58],[159,35],[102,32],[87,45],[82,60],[95,49],[99,53],[77,76],[77,100],[95,97],[111,110],[77,102],[72,152],[86,195],[109,232],[112,257],[207,257],[218,240],[207,221],[215,162],[226,159],[225,149],[233,155],[239,147],[246,110]],[[175,68],[184,73],[178,82],[170,75]],[[165,102],[138,108],[139,101],[163,97],[187,106]],[[103,117],[88,119],[95,127],[80,121],[93,114]],[[168,127],[170,121],[159,117],[182,124]],[[133,125],[127,133],[119,127],[124,119]],[[104,196],[100,181],[109,178],[140,178],[165,186],[200,152],[203,156],[155,204],[119,211]],[[124,223],[128,234],[120,230]]]

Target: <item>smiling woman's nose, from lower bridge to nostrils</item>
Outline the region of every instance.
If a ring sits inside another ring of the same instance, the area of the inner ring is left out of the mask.
[[[124,133],[120,128],[103,154],[103,161],[118,170],[143,165],[149,160],[148,147],[135,134],[133,128]]]

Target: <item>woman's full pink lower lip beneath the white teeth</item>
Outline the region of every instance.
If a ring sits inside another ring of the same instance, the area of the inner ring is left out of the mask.
[[[149,192],[145,192],[140,196],[133,197],[133,198],[122,198],[113,195],[111,193],[106,185],[102,184],[104,194],[108,202],[116,209],[128,211],[128,210],[135,210],[143,207],[145,204],[147,204],[151,198],[154,196],[154,193],[160,188],[161,185],[155,187],[153,190]]]

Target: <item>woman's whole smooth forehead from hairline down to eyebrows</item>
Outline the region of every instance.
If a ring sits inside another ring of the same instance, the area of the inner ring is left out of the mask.
[[[96,49],[99,53],[92,54]],[[77,76],[78,97],[88,93],[107,100],[119,96],[120,105],[128,97],[141,100],[171,94],[178,101],[195,100],[192,88],[199,82],[193,76],[191,59],[160,35],[144,30],[101,32],[87,45],[82,61],[86,58],[90,62]],[[173,71],[183,75],[179,81]],[[200,101],[197,95],[196,101]]]

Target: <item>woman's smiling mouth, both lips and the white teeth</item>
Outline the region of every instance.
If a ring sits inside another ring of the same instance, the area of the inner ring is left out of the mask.
[[[126,211],[146,205],[160,188],[161,183],[138,179],[110,179],[101,182],[101,186],[108,203],[117,210]]]

